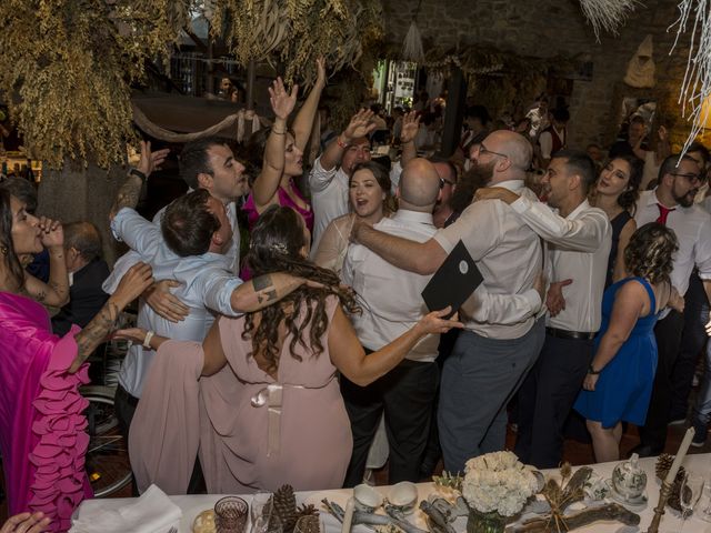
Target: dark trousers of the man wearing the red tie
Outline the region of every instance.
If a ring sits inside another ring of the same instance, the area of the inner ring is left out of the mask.
[[[647,423],[640,428],[642,445],[649,446],[653,455],[659,455],[667,443],[667,424],[672,394],[671,376],[677,363],[683,328],[683,314],[673,310],[654,326],[658,352],[657,373],[647,412]]]

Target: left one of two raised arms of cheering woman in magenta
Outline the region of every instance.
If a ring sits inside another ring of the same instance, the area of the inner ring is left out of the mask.
[[[269,88],[269,101],[274,112],[274,123],[267,138],[262,170],[252,185],[252,195],[258,208],[269,204],[277,189],[279,189],[281,175],[284,172],[287,119],[297,103],[298,92],[299,86],[293,86],[291,94],[288,93],[281,78],[277,78],[272,87]]]

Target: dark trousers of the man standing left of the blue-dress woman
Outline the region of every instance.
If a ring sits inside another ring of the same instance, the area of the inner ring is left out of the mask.
[[[563,426],[593,356],[592,340],[545,334],[538,361],[519,389],[515,454],[524,464],[553,469],[563,454]]]

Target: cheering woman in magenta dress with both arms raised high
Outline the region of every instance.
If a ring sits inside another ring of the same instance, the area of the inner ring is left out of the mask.
[[[303,172],[303,150],[311,137],[319,99],[326,87],[326,68],[322,59],[317,61],[317,68],[316,84],[297,113],[293,129],[287,127],[287,120],[297,103],[299,86],[294,86],[289,93],[281,78],[277,78],[269,88],[274,123],[271,129],[257,132],[247,147],[250,152],[263,154],[261,172],[254,180],[252,192],[242,208],[247,211],[250,229],[269,205],[276,204],[297,211],[306,221],[309,231],[313,231],[313,211],[297,189],[293,179]],[[269,133],[269,137],[264,138],[266,133]]]

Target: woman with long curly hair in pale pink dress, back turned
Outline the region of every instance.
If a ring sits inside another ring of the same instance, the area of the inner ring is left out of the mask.
[[[213,494],[342,486],[352,436],[337,374],[365,385],[394,368],[424,335],[454,321],[425,315],[365,356],[346,312],[358,312],[338,275],[309,262],[308,232],[292,209],[270,207],[252,231],[247,264],[260,298],[269,275],[302,285],[279,302],[221,318],[202,344],[148,339],[158,353],[131,425],[130,455],[140,490],[156,483],[184,493],[198,453]],[[346,312],[344,312],[346,310]],[[146,332],[126,336],[146,342]]]

